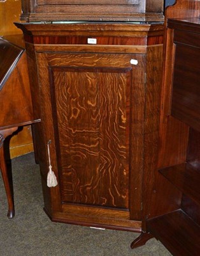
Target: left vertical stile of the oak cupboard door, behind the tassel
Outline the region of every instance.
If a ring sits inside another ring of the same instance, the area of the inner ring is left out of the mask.
[[[55,148],[55,130],[54,122],[52,118],[52,106],[50,95],[50,84],[48,72],[48,56],[46,53],[36,54],[38,63],[38,81],[39,81],[39,100],[41,108],[41,132],[43,134],[42,141],[39,142],[39,154],[43,155],[43,159],[39,162],[41,168],[41,177],[43,180],[44,197],[48,198],[48,204],[45,205],[45,209],[51,217],[54,212],[61,211],[61,195],[59,186],[59,166],[57,166],[56,148]],[[57,177],[58,185],[54,188],[48,188],[46,185],[46,179],[48,174],[48,150],[47,143],[50,143],[50,161],[52,170]]]

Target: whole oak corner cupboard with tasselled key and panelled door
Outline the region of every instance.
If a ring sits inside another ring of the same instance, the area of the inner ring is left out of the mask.
[[[46,213],[53,221],[140,232],[157,161],[162,23],[16,25],[41,116]]]

